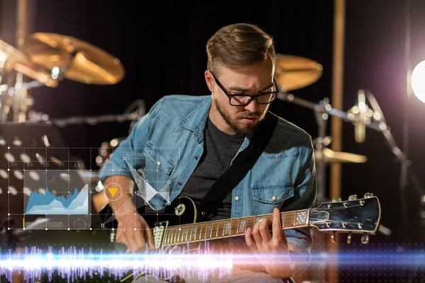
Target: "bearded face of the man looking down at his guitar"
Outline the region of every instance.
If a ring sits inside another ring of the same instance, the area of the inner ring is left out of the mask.
[[[219,72],[215,76],[229,95],[256,95],[270,92],[272,88],[275,91],[273,87],[273,64],[270,59],[254,66],[245,67],[242,70],[232,70],[226,67],[219,68]],[[208,74],[212,78],[208,78]],[[224,122],[222,123],[223,126],[228,128],[222,130],[229,134],[249,134],[253,132],[259,122],[265,117],[270,105],[259,104],[254,99],[247,105],[230,105],[225,91],[220,88],[219,83],[215,81],[212,74],[209,72],[208,74],[205,73],[208,87],[212,92],[210,117],[215,117],[216,120],[221,118],[222,122]],[[213,122],[217,121],[213,120]]]

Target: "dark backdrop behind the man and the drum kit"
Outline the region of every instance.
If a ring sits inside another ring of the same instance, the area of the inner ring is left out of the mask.
[[[344,54],[344,109],[351,108],[360,88],[378,100],[392,134],[402,146],[406,92],[406,4],[402,0],[346,1]],[[413,66],[425,59],[425,1],[411,0],[411,57]],[[295,54],[322,64],[316,83],[293,91],[313,102],[331,98],[334,2],[331,0],[281,1],[35,1],[30,32],[60,33],[89,42],[118,57],[125,78],[113,86],[90,86],[62,81],[57,88],[35,88],[33,110],[50,118],[74,115],[122,114],[135,100],[145,100],[147,110],[169,94],[205,95],[203,72],[208,38],[223,25],[255,23],[270,33],[276,52]],[[16,1],[0,0],[0,39],[15,45]],[[16,45],[15,45],[16,46]],[[332,103],[332,101],[331,101]],[[276,101],[271,110],[317,137],[310,109]],[[424,185],[425,104],[409,102],[409,170]],[[130,122],[72,125],[60,129],[67,146],[94,147],[102,141],[128,134]],[[330,126],[330,123],[329,123]],[[330,134],[330,132],[329,132]],[[391,236],[378,234],[373,241],[421,242],[425,230],[418,216],[421,187],[406,189],[409,221],[402,221],[400,165],[379,132],[368,130],[363,144],[354,141],[353,125],[344,123],[343,150],[363,154],[368,161],[342,165],[341,197],[373,192],[382,204],[381,223]],[[75,155],[79,151],[74,151]],[[94,160],[87,167],[96,170]],[[419,191],[418,191],[419,190]]]

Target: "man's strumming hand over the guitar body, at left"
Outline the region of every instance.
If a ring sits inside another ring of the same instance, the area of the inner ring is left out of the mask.
[[[152,231],[140,214],[125,214],[118,219],[117,243],[127,246],[126,253],[135,253],[148,248],[154,249]]]

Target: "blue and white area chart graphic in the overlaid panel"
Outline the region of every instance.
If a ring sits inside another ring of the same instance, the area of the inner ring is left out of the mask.
[[[33,191],[28,198],[26,214],[89,214],[89,185],[81,191],[75,188],[69,195],[56,196],[46,188],[46,192]]]

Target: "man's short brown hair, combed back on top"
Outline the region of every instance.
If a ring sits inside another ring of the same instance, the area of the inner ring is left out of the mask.
[[[273,38],[256,25],[227,25],[212,35],[207,43],[208,69],[217,66],[240,69],[276,58]]]

